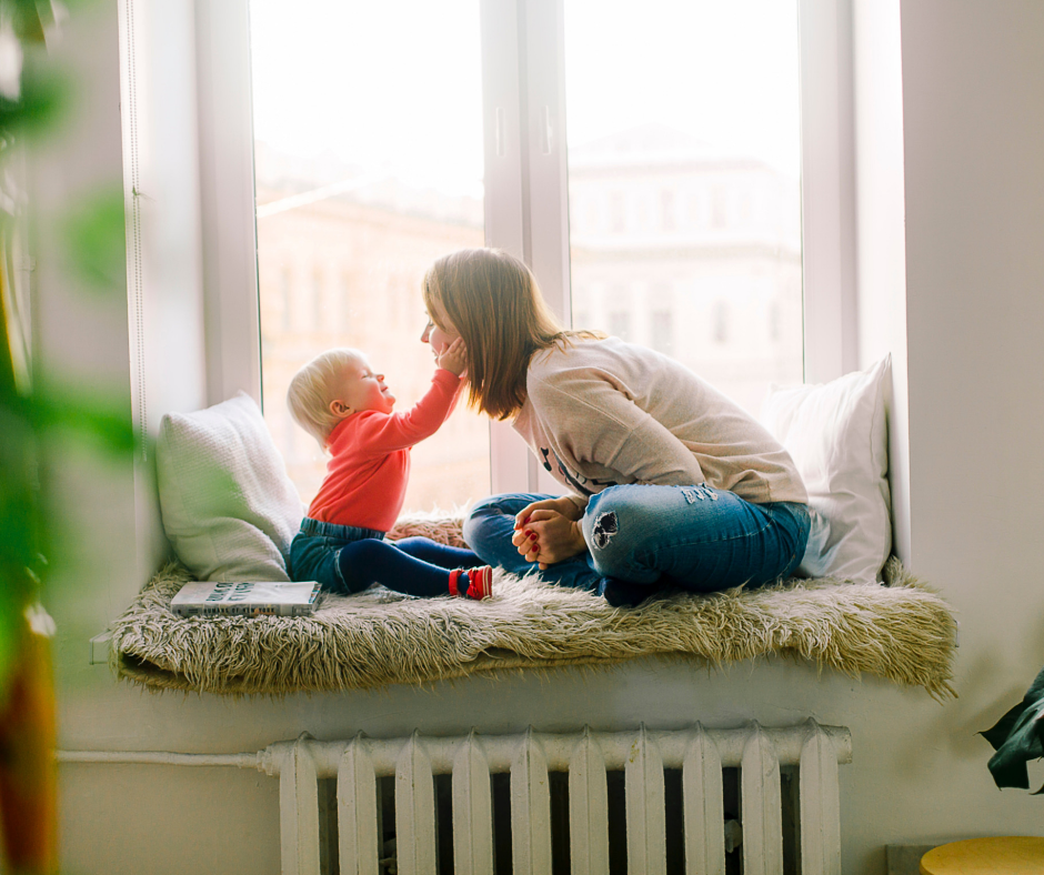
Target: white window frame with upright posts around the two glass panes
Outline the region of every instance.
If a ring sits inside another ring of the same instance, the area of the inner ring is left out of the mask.
[[[853,48],[846,0],[796,0],[806,382],[857,366]],[[485,243],[530,265],[570,324],[564,3],[480,0]],[[249,0],[197,0],[208,394],[261,403]],[[492,47],[495,47],[492,48]],[[562,487],[490,424],[496,492]]]

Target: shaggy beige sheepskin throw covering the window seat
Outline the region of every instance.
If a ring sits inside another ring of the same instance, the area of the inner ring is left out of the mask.
[[[391,533],[410,534],[462,543],[459,520],[404,521]],[[886,576],[885,586],[795,579],[614,609],[498,572],[485,602],[373,586],[325,596],[312,617],[182,620],[170,600],[188,575],[172,564],[116,621],[112,654],[120,677],[149,688],[230,695],[431,684],[653,655],[719,665],[776,653],[954,696],[956,623],[946,603],[897,560]]]

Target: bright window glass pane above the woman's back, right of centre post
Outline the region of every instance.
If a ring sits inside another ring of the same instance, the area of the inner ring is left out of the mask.
[[[802,380],[795,0],[565,0],[573,323]]]

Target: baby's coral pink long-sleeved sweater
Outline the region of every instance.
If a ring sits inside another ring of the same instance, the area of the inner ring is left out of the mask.
[[[387,532],[399,517],[410,480],[410,447],[430,438],[453,411],[461,380],[439,369],[431,389],[406,413],[363,410],[337,424],[327,444],[332,456],[313,520]]]

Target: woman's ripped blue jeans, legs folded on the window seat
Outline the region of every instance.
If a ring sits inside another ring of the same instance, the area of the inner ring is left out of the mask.
[[[464,540],[491,565],[525,574],[536,569],[511,537],[514,517],[535,501],[512,493],[480,502]],[[790,576],[809,541],[809,509],[752,504],[712,486],[610,486],[592,495],[581,526],[588,552],[549,565],[540,576],[562,586],[598,589],[603,577],[631,584],[717,592]]]

